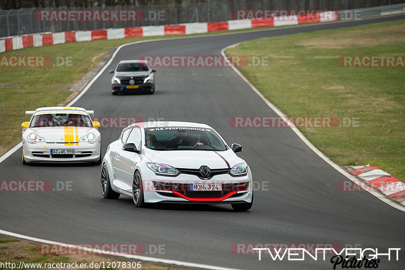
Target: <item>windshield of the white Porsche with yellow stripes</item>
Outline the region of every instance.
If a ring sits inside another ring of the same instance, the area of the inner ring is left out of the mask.
[[[33,116],[30,128],[39,127],[87,127],[91,128],[89,115],[78,113],[41,113]]]

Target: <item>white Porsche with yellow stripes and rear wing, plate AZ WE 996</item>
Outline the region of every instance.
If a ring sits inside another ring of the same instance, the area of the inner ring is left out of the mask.
[[[22,123],[22,163],[101,163],[101,135],[92,122],[94,111],[79,107],[43,107]]]

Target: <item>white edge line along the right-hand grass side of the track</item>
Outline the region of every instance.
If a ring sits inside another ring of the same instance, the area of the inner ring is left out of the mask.
[[[221,51],[222,56],[226,57],[225,50],[228,49],[228,48],[231,48],[232,46],[233,47],[236,46],[236,44],[229,45],[229,46],[225,47],[224,49],[222,49],[222,51]],[[270,109],[272,109],[275,113],[278,114],[279,117],[286,117],[287,116],[286,114],[284,114],[284,112],[282,112],[279,108],[277,108],[273,103],[268,101],[267,98],[265,98],[265,96],[259,90],[257,90],[257,88],[254,85],[252,85],[251,82],[249,82],[248,79],[246,79],[245,76],[236,67],[234,67],[233,65],[230,65],[230,67],[233,69],[233,71],[235,71],[240,76],[240,78],[242,80],[244,80],[250,86],[250,88],[253,91],[255,91],[255,93],[267,104],[267,106],[270,107]],[[305,138],[305,136],[301,133],[301,131],[299,131],[299,129],[292,128],[292,130],[322,160],[324,160],[326,163],[331,165],[335,170],[337,170],[338,172],[340,172],[341,174],[346,176],[352,182],[354,182],[354,183],[356,183],[356,181],[358,182],[358,178],[356,178],[355,176],[349,174],[346,170],[344,170],[339,165],[337,165],[336,163],[331,161],[327,156],[323,155],[323,153],[321,151],[319,151],[307,138]],[[361,180],[361,181],[364,181],[364,180]],[[392,206],[392,207],[394,207],[394,208],[396,208],[398,210],[401,210],[402,212],[405,212],[405,207],[403,207],[402,205],[398,205],[397,203],[393,202],[391,199],[386,198],[379,191],[376,191],[376,190],[374,190],[372,188],[368,188],[367,191],[369,191],[371,194],[373,194],[375,197],[377,197],[378,199],[380,199],[384,203],[386,203],[386,204],[388,204],[388,205],[390,205],[390,206]]]

